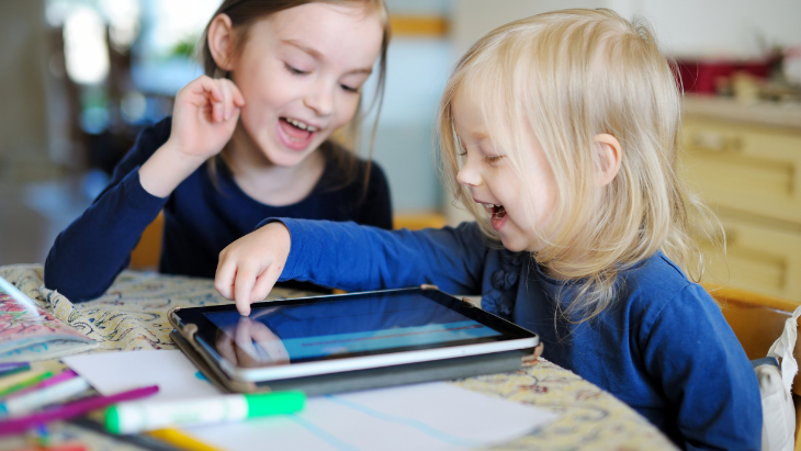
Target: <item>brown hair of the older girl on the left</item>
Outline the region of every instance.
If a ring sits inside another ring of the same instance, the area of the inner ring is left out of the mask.
[[[379,54],[379,80],[375,88],[375,95],[373,98],[372,103],[370,106],[363,111],[361,102],[359,104],[359,108],[356,111],[356,114],[353,115],[353,119],[351,119],[350,123],[343,127],[346,129],[345,134],[341,136],[342,142],[345,142],[346,145],[351,147],[351,151],[345,150],[342,146],[336,145],[331,138],[327,139],[325,143],[320,145],[320,150],[324,153],[326,160],[330,159],[335,162],[337,168],[341,171],[341,183],[338,183],[335,189],[337,188],[345,188],[346,185],[350,184],[353,179],[357,177],[358,170],[359,170],[359,160],[356,158],[356,156],[359,154],[359,143],[360,143],[360,136],[361,136],[361,122],[364,119],[364,116],[368,114],[370,110],[373,108],[377,108],[377,112],[375,115],[375,122],[373,123],[372,131],[370,134],[370,146],[368,147],[368,165],[364,171],[364,180],[363,180],[363,192],[366,192],[368,183],[370,182],[370,165],[372,162],[372,155],[373,155],[373,144],[375,140],[375,131],[379,124],[379,117],[381,115],[381,106],[383,104],[384,99],[384,86],[386,80],[386,49],[390,45],[390,19],[388,14],[386,12],[386,7],[384,5],[383,0],[225,0],[223,3],[217,8],[217,11],[212,15],[212,18],[216,18],[218,14],[226,14],[232,22],[232,25],[235,30],[238,31],[236,35],[236,42],[234,43],[234,52],[238,53],[241,52],[244,44],[247,42],[248,38],[248,32],[250,29],[250,25],[253,22],[257,22],[261,19],[264,19],[269,15],[272,15],[277,12],[287,10],[291,8],[300,7],[307,3],[313,3],[314,1],[320,1],[325,3],[340,3],[340,4],[360,4],[363,3],[368,8],[374,8],[379,11],[382,25],[384,27],[384,33],[382,35],[382,42],[381,42],[381,53]],[[228,77],[228,72],[221,69],[217,64],[214,61],[214,57],[212,56],[212,52],[208,48],[208,27],[211,26],[211,22],[208,21],[208,25],[206,25],[206,29],[203,31],[203,34],[201,35],[201,50],[200,50],[200,59],[203,63],[203,69],[205,70],[205,74],[208,77],[212,78],[226,78]],[[216,171],[217,171],[217,158],[224,159],[224,153],[221,153],[216,157],[208,159],[208,171],[212,176],[212,180],[216,180]],[[338,178],[339,179],[339,178]]]

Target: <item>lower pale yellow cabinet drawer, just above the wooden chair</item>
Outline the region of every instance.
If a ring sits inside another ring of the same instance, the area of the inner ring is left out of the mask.
[[[707,282],[801,302],[801,233],[721,217],[726,253],[706,238]]]

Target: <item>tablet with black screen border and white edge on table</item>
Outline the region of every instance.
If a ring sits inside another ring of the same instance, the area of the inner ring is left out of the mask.
[[[519,360],[539,345],[537,334],[425,285],[255,303],[248,317],[233,304],[180,308],[170,319],[194,325],[194,348],[210,364],[249,382],[509,351]]]

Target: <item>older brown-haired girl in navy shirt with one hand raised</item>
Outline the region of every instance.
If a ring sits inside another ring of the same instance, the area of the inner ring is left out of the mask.
[[[374,67],[380,108],[388,38],[383,0],[223,1],[201,42],[206,75],[56,238],[45,285],[72,302],[101,295],[160,211],[159,270],[206,278],[267,216],[392,228],[382,170],[329,139],[359,135]]]

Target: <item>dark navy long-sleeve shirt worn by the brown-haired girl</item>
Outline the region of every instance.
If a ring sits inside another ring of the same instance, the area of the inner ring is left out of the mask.
[[[72,224],[56,238],[45,262],[45,285],[72,302],[103,294],[128,266],[131,251],[145,228],[165,212],[159,271],[213,278],[219,252],[252,232],[269,216],[353,221],[392,228],[390,189],[376,164],[366,162],[350,183],[334,158],[326,158],[320,180],[306,199],[291,205],[272,206],[248,196],[236,184],[229,169],[217,165],[216,185],[205,165],[189,176],[167,198],[149,194],[139,182],[139,167],[170,136],[168,117],[145,129],[134,147],[114,169],[109,185]],[[329,151],[346,151],[334,145]]]

